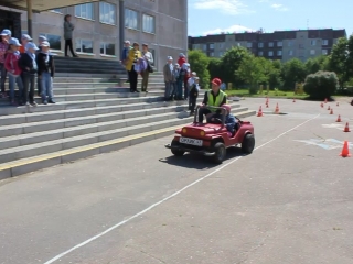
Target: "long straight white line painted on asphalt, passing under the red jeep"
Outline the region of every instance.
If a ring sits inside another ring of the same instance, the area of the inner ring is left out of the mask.
[[[279,138],[281,138],[281,136],[284,136],[285,134],[288,134],[289,132],[293,131],[295,129],[298,129],[299,127],[301,127],[301,125],[303,125],[303,124],[306,124],[306,123],[308,123],[308,122],[310,122],[310,121],[312,121],[312,120],[314,120],[314,119],[317,119],[317,118],[319,118],[319,117],[320,117],[320,113],[319,113],[318,116],[315,116],[314,118],[308,119],[307,121],[304,121],[304,122],[302,122],[302,123],[300,123],[300,124],[296,125],[295,128],[292,128],[292,129],[290,129],[290,130],[287,130],[286,132],[284,132],[284,133],[281,133],[281,134],[277,135],[276,138],[271,139],[270,141],[267,141],[266,143],[264,143],[264,144],[261,144],[261,145],[259,145],[259,146],[255,147],[255,148],[254,148],[254,151],[259,150],[259,148],[261,148],[261,147],[264,147],[264,146],[268,145],[269,143],[271,143],[271,142],[274,142],[274,141],[278,140],[278,139],[279,139]],[[68,253],[73,252],[74,250],[77,250],[77,249],[79,249],[79,248],[82,248],[82,246],[84,246],[84,245],[86,245],[86,244],[90,243],[92,241],[94,241],[94,240],[96,240],[96,239],[99,239],[100,237],[105,235],[106,233],[109,233],[110,231],[113,231],[113,230],[115,230],[115,229],[119,228],[120,226],[122,226],[122,224],[125,224],[125,223],[127,223],[127,222],[129,222],[129,221],[133,220],[135,218],[137,218],[137,217],[139,217],[139,216],[143,215],[145,212],[150,211],[150,210],[151,210],[151,209],[153,209],[154,207],[157,207],[157,206],[159,206],[159,205],[163,204],[164,201],[170,200],[171,198],[173,198],[173,197],[175,197],[176,195],[181,194],[181,193],[182,193],[182,191],[184,191],[185,189],[189,189],[190,187],[192,187],[192,186],[194,186],[194,185],[199,184],[200,182],[202,182],[202,180],[204,180],[204,179],[208,178],[210,176],[212,176],[212,175],[214,175],[215,173],[217,173],[217,172],[222,170],[223,168],[225,168],[225,167],[229,166],[231,164],[235,163],[236,161],[239,161],[242,157],[243,157],[243,156],[238,156],[238,157],[234,158],[233,161],[231,161],[231,162],[228,162],[228,163],[224,164],[223,166],[221,166],[221,167],[218,167],[218,168],[214,169],[213,172],[208,173],[207,175],[203,176],[202,178],[196,179],[195,182],[193,182],[193,183],[191,183],[191,184],[186,185],[185,187],[183,187],[182,189],[180,189],[180,190],[178,190],[178,191],[173,193],[172,195],[170,195],[170,196],[165,197],[164,199],[162,199],[162,200],[160,200],[160,201],[158,201],[158,202],[156,202],[156,204],[153,204],[153,205],[149,206],[149,207],[148,207],[148,208],[146,208],[145,210],[142,210],[142,211],[140,211],[140,212],[138,212],[138,213],[133,215],[132,217],[130,217],[130,218],[128,218],[128,219],[126,219],[126,220],[124,220],[124,221],[121,221],[121,222],[119,222],[119,223],[117,223],[117,224],[113,226],[111,228],[108,228],[107,230],[103,231],[101,233],[98,233],[97,235],[92,237],[90,239],[88,239],[88,240],[86,240],[86,241],[84,241],[84,242],[82,242],[82,243],[79,243],[79,244],[77,244],[77,245],[75,245],[75,246],[71,248],[69,250],[67,250],[67,251],[65,251],[65,252],[63,252],[63,253],[61,253],[61,254],[58,254],[58,255],[54,256],[53,258],[51,258],[50,261],[45,262],[44,264],[51,264],[51,263],[53,263],[53,262],[55,262],[55,261],[60,260],[61,257],[63,257],[63,256],[67,255]]]

